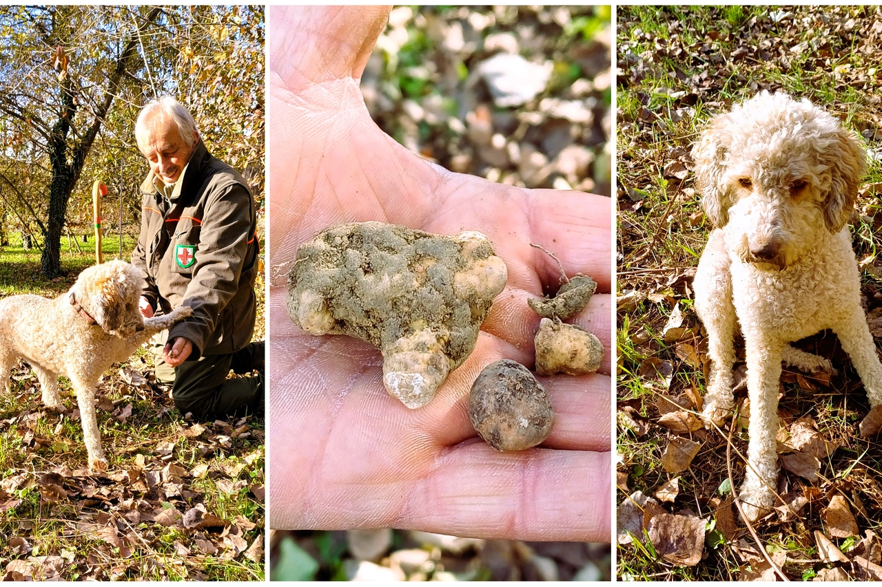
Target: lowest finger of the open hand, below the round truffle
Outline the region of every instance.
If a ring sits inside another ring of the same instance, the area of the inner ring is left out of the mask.
[[[606,542],[609,458],[609,452],[500,453],[483,443],[460,445],[437,458],[393,509],[400,515],[386,522],[456,536]]]

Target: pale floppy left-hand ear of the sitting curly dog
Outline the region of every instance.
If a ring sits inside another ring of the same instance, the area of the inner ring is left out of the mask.
[[[729,191],[721,185],[726,171],[723,160],[729,152],[731,134],[729,115],[720,115],[711,121],[710,127],[701,133],[698,144],[692,147],[695,161],[695,181],[701,192],[701,207],[716,228],[729,222],[729,208],[734,204]]]

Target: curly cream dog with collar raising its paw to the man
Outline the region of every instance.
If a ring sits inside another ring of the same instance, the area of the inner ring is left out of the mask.
[[[13,295],[0,300],[0,373],[9,374],[19,358],[30,363],[42,388],[43,403],[61,405],[58,375],[76,391],[89,469],[106,471],[94,397],[101,374],[126,360],[156,332],[191,316],[186,306],[167,316],[141,316],[141,271],[123,261],[94,265],[79,274],[67,294],[48,300]]]

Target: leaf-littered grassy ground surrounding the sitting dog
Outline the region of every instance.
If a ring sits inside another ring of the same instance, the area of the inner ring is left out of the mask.
[[[833,373],[785,369],[778,452],[782,503],[751,538],[732,504],[729,424],[697,416],[706,331],[691,280],[709,225],[691,175],[707,120],[763,89],[805,96],[861,133],[871,170],[852,218],[864,308],[882,338],[878,7],[619,7],[618,568],[638,580],[878,579],[882,450],[862,438],[869,405],[832,332],[796,346]],[[747,447],[744,345],[736,341],[732,480]]]

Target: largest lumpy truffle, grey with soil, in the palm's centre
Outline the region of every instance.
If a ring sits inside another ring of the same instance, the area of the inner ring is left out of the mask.
[[[288,314],[311,334],[377,346],[386,390],[418,408],[475,348],[506,279],[505,263],[481,233],[345,224],[297,250]]]

